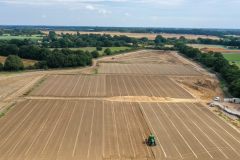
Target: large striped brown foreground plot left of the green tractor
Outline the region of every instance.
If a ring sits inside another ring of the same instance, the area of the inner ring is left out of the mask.
[[[30,100],[1,121],[1,160],[146,159],[150,133],[131,103]]]

